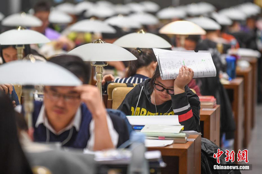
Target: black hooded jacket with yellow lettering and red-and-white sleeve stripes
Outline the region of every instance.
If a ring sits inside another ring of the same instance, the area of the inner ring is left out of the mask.
[[[186,86],[184,93],[171,95],[171,100],[155,106],[151,102],[153,88],[150,86],[150,80],[146,79],[136,85],[126,95],[118,110],[126,115],[178,115],[179,123],[184,126],[184,130],[200,132],[198,96]]]

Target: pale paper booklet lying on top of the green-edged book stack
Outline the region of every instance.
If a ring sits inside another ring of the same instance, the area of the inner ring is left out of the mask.
[[[184,126],[145,125],[141,132],[150,133],[179,133]]]

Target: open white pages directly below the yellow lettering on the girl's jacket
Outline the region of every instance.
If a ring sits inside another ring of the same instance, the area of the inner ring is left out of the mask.
[[[134,125],[180,125],[178,115],[147,115],[147,116],[126,116],[129,123]]]

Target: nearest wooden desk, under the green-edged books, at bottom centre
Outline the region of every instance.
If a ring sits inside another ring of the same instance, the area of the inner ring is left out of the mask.
[[[162,174],[200,174],[201,173],[201,136],[190,135],[195,141],[187,141],[185,144],[175,143],[166,147],[150,147],[148,150],[160,150],[164,162]]]

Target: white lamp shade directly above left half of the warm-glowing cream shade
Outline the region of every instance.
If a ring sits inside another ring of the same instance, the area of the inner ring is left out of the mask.
[[[186,12],[182,8],[167,7],[157,13],[159,19],[183,19],[186,17]]]

